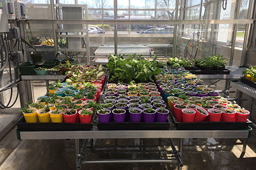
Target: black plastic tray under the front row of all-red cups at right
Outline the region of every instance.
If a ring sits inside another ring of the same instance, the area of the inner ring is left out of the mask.
[[[169,109],[170,110],[170,109]],[[247,130],[252,122],[177,122],[174,114],[170,111],[172,121],[177,130]]]

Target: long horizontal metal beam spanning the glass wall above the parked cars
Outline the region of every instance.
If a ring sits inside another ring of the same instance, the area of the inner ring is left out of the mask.
[[[37,24],[251,24],[254,19],[232,20],[43,20],[30,19],[28,23]]]

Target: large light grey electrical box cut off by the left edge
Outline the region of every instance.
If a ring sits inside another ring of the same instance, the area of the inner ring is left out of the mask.
[[[9,32],[6,0],[0,0],[0,32]]]

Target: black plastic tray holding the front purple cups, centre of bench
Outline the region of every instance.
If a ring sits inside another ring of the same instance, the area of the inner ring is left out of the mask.
[[[129,116],[126,116],[129,117]],[[146,122],[128,122],[129,120],[126,119],[124,123],[100,123],[97,120],[98,129],[100,131],[107,131],[107,130],[169,130],[170,128],[170,118],[168,116],[167,122],[153,122],[153,123],[146,123]]]

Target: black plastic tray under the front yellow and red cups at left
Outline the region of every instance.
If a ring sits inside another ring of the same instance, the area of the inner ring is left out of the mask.
[[[26,123],[22,117],[17,122],[18,131],[90,131],[95,114],[92,116],[91,123]]]

